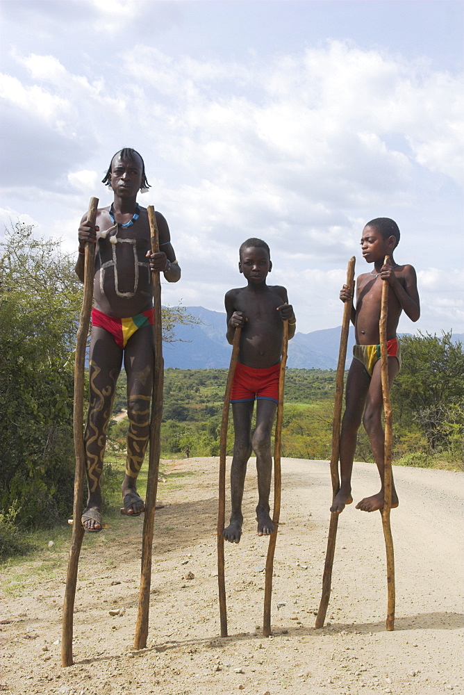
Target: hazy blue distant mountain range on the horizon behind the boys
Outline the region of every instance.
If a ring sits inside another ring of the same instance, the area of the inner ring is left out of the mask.
[[[177,325],[176,342],[163,346],[165,367],[178,369],[206,369],[229,367],[231,346],[226,341],[226,314],[210,311],[203,306],[187,306],[187,313],[201,323],[192,326]],[[340,348],[341,327],[327,328],[311,333],[297,333],[288,344],[288,366],[305,369],[336,369]],[[464,340],[463,334],[453,336]],[[349,330],[347,363],[351,361],[354,328]]]

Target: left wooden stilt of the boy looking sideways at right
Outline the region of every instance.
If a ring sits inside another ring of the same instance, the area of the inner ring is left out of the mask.
[[[354,256],[350,259],[347,269],[347,285],[351,292],[354,292]],[[340,479],[338,477],[338,459],[340,457],[340,420],[342,415],[343,402],[343,380],[345,376],[345,361],[347,359],[347,343],[349,335],[349,321],[351,318],[351,302],[345,302],[343,307],[342,332],[340,334],[340,349],[338,351],[337,375],[335,378],[335,403],[333,405],[332,421],[332,452],[330,461],[330,472],[332,479],[332,502],[340,489]],[[327,538],[326,562],[324,565],[324,575],[322,578],[322,596],[317,611],[316,628],[322,628],[326,619],[327,606],[331,594],[332,567],[335,557],[335,540],[337,537],[338,517],[340,514],[331,513],[329,525],[329,537]]]

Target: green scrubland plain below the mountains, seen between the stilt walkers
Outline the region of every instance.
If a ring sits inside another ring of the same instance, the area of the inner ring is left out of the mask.
[[[161,425],[162,457],[218,456],[226,369],[165,370]],[[115,411],[125,405],[125,375],[119,379]],[[283,455],[299,458],[330,456],[335,372],[289,369],[285,380]],[[108,428],[111,445],[125,446],[126,420]],[[227,454],[232,454],[233,423],[229,417]]]

